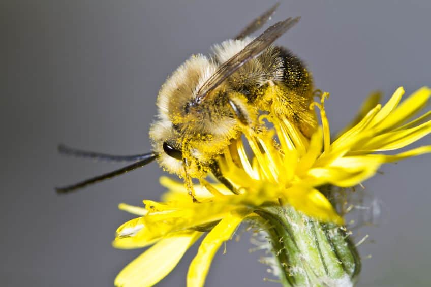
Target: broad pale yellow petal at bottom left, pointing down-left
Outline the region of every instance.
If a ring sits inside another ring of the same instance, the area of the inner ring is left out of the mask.
[[[201,234],[188,232],[160,240],[121,270],[115,278],[115,286],[155,285],[171,272]]]

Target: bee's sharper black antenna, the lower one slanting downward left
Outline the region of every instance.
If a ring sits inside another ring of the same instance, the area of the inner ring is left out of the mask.
[[[74,190],[83,188],[87,185],[97,183],[99,181],[102,181],[102,180],[105,180],[108,178],[112,178],[112,177],[115,177],[117,175],[124,174],[124,173],[127,173],[129,171],[135,170],[137,168],[143,167],[143,166],[151,163],[152,161],[154,161],[156,159],[156,157],[157,157],[157,154],[155,154],[155,153],[143,154],[143,155],[141,155],[141,160],[139,162],[136,162],[136,163],[131,164],[129,166],[125,166],[125,167],[120,168],[118,170],[111,171],[111,172],[106,173],[106,174],[102,174],[102,175],[99,175],[99,176],[96,176],[93,178],[89,178],[87,180],[78,182],[76,184],[72,184],[72,185],[64,186],[64,187],[55,187],[55,190],[59,194],[69,193],[69,192],[72,192]]]

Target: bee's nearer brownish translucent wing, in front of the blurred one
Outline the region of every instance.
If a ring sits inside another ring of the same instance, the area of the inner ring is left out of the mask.
[[[224,62],[217,71],[211,75],[211,77],[199,89],[194,102],[198,104],[203,101],[210,91],[217,88],[226,78],[244,65],[244,63],[258,56],[298,21],[299,17],[287,18],[286,20],[277,22],[266,29],[259,37],[254,39],[245,46],[244,49]]]

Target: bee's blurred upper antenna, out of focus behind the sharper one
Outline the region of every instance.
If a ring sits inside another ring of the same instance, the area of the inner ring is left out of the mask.
[[[135,154],[135,155],[112,155],[94,151],[85,151],[76,148],[67,147],[64,144],[58,145],[58,152],[65,155],[71,155],[75,157],[90,158],[91,160],[102,160],[110,162],[136,162],[145,160],[152,153]]]

